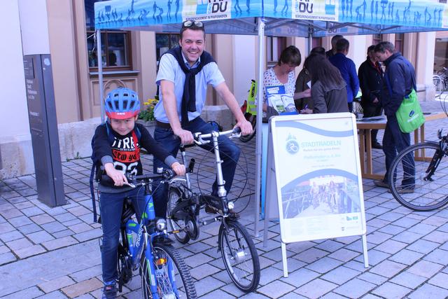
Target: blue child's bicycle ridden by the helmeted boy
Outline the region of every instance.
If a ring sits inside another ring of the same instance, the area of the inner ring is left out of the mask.
[[[197,298],[195,284],[188,266],[173,246],[164,244],[167,232],[165,219],[156,219],[151,188],[154,179],[168,183],[174,177],[171,169],[161,174],[128,176],[129,186],[143,187],[146,207],[140,223],[132,220],[135,214],[132,200],[125,198],[121,216],[120,244],[118,244],[118,291],[132,279],[133,270],[139,269],[142,298],[171,299]],[[109,176],[102,181],[113,185]],[[159,182],[158,182],[159,183]]]

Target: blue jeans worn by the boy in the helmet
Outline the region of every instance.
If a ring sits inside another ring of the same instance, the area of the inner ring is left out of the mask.
[[[100,214],[103,228],[101,250],[104,283],[118,279],[117,250],[120,239],[121,213],[125,197],[132,198],[132,206],[137,213],[137,220],[145,209],[145,192],[135,188],[122,193],[101,193],[99,197]]]

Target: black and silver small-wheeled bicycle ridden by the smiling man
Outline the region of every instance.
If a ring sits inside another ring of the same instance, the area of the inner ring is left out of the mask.
[[[232,213],[234,203],[228,201],[224,188],[225,182],[218,146],[219,136],[238,137],[238,132],[237,128],[225,132],[194,134],[196,145],[209,142],[214,145],[218,197],[193,192],[188,173],[185,179],[175,178],[169,183],[167,220],[172,230],[178,231],[174,236],[182,244],[186,244],[190,239],[197,239],[200,234],[200,226],[221,221],[218,232],[218,251],[221,251],[225,269],[241,291],[251,292],[257,288],[260,281],[260,261],[251,236],[237,220],[238,216]],[[195,146],[195,144],[180,146],[184,165],[187,162],[186,148]],[[188,172],[193,171],[194,164],[195,160],[192,159],[188,166]],[[216,214],[216,216],[207,220],[200,219],[201,207],[205,207],[207,213]]]

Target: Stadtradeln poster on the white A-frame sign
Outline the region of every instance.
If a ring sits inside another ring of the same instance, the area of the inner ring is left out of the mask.
[[[276,136],[283,223],[295,227],[290,237],[357,232],[361,195],[351,119],[285,122]]]

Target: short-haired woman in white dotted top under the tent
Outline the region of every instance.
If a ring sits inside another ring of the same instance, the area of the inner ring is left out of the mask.
[[[279,62],[272,68],[267,69],[263,74],[263,85],[277,86],[284,85],[285,92],[294,99],[309,97],[310,91],[295,92],[295,68],[302,62],[300,50],[295,46],[289,46],[281,52]],[[265,116],[266,114],[266,116]],[[267,103],[266,92],[263,92],[263,118],[268,120],[269,117],[279,115],[274,107]]]

